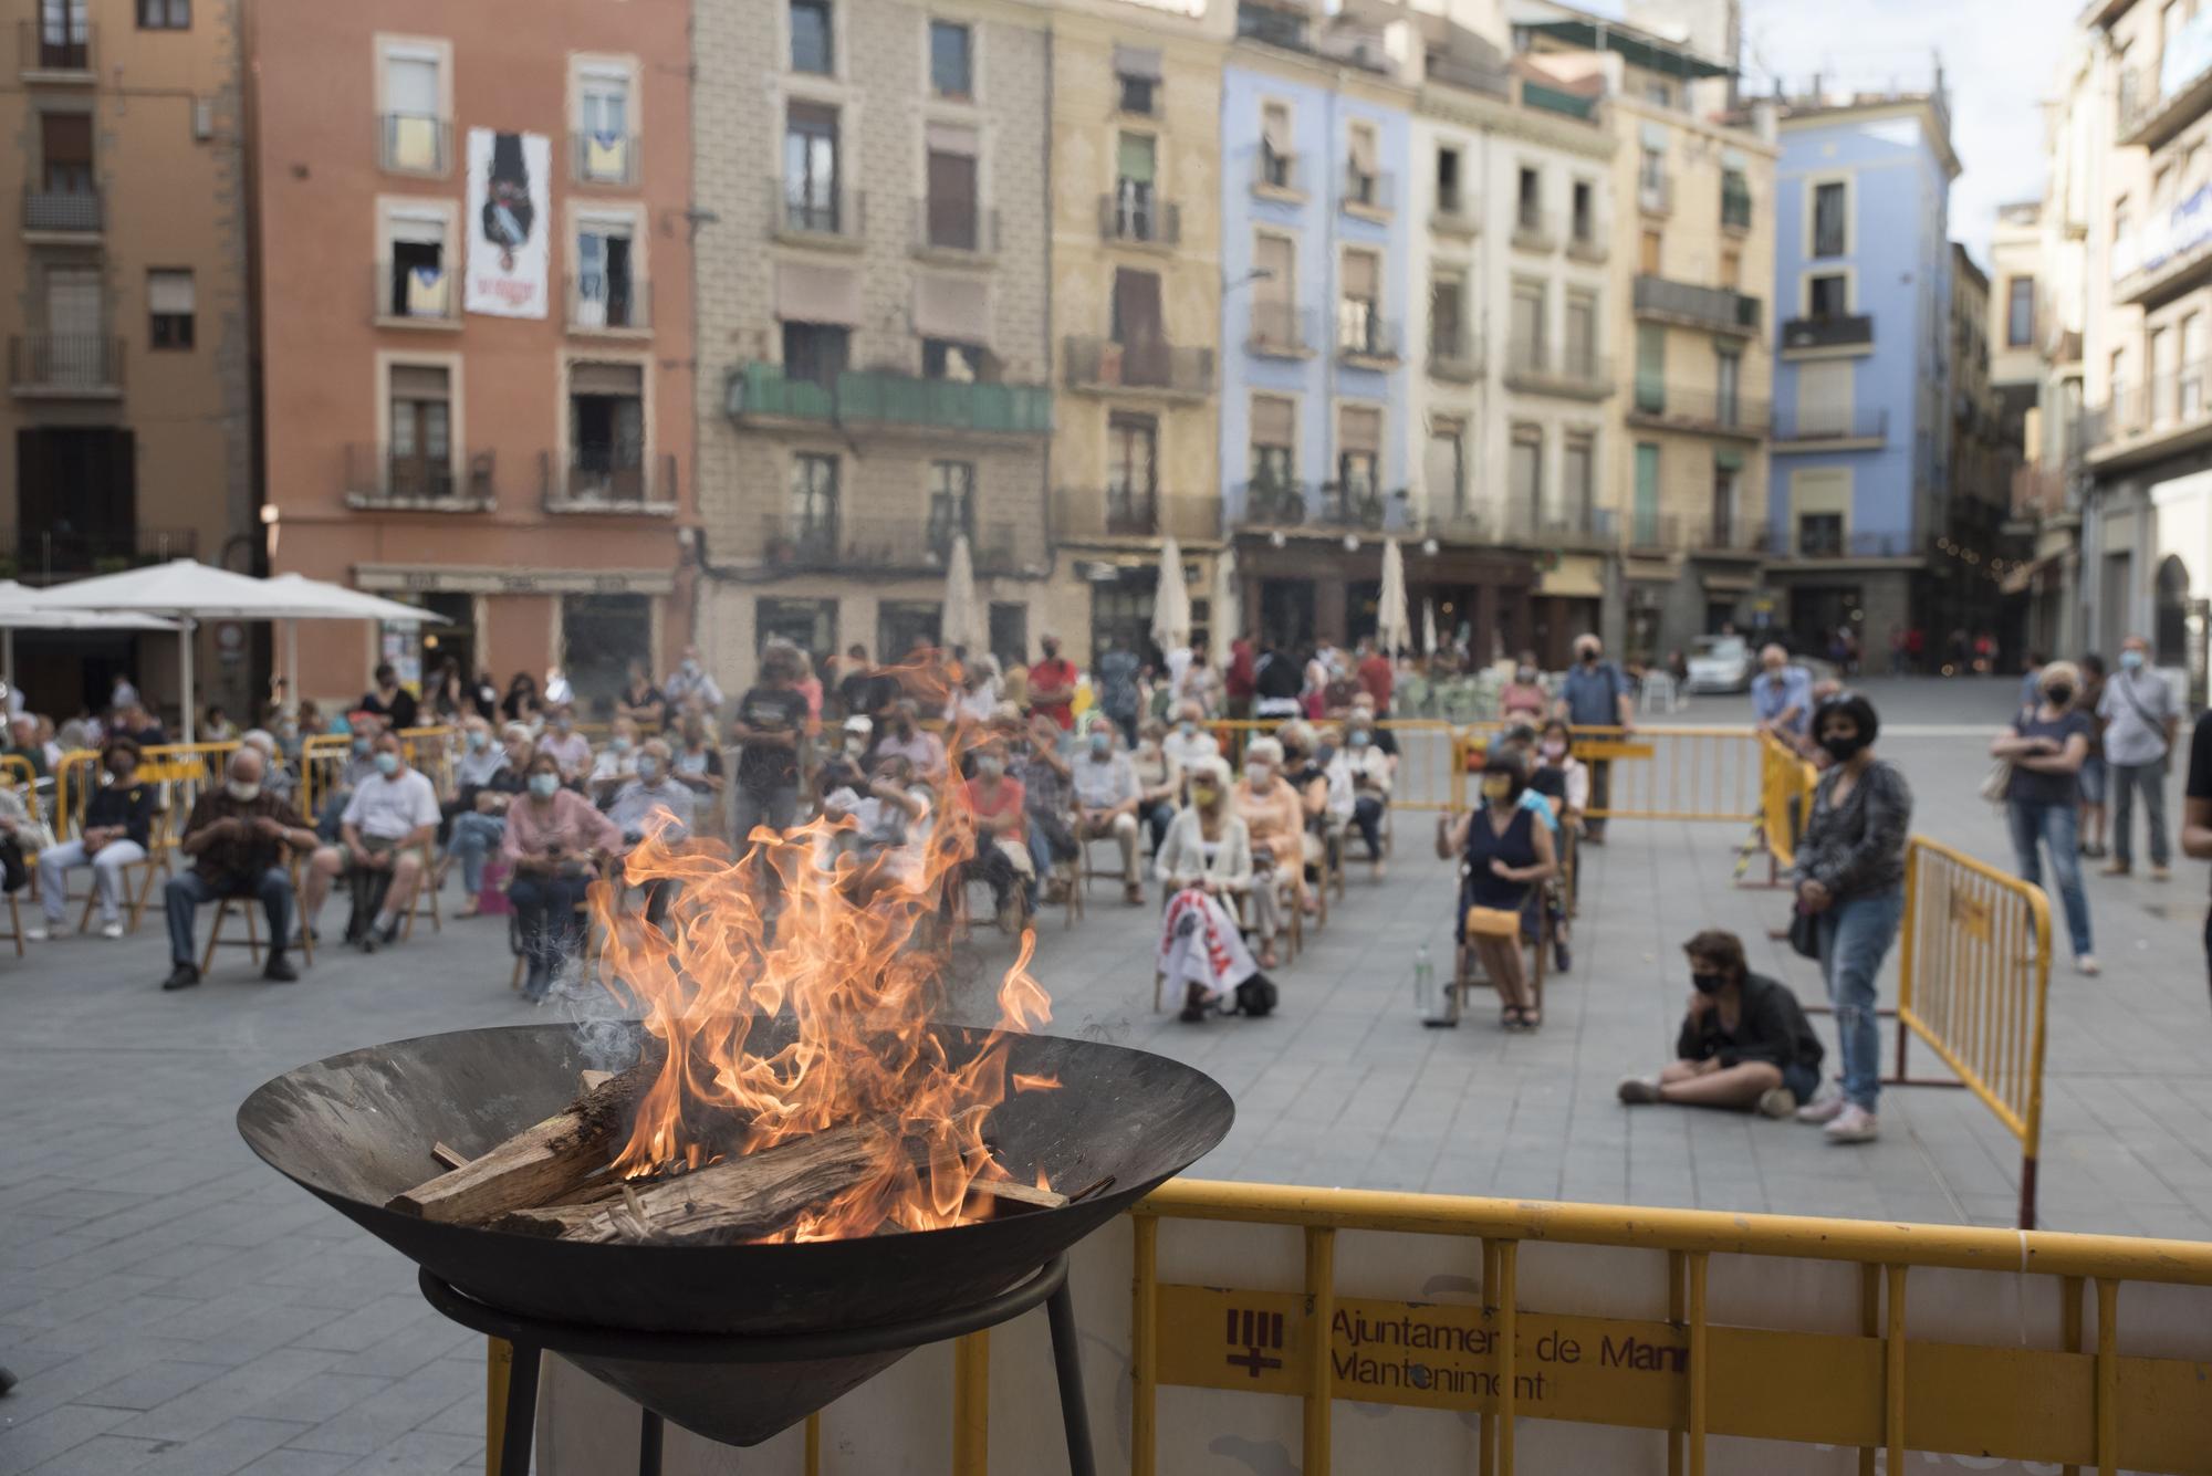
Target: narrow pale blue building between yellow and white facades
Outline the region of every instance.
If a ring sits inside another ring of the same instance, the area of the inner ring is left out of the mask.
[[[1418,524],[1391,55],[1358,18],[1245,0],[1221,73],[1221,515],[1245,623],[1287,645],[1369,634],[1383,544]]]

